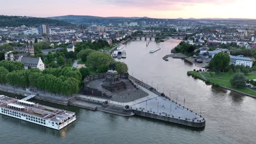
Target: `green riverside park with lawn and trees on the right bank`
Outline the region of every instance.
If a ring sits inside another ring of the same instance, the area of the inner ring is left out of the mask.
[[[230,61],[228,53],[220,52],[211,59],[207,71],[194,69],[187,74],[215,87],[222,86],[256,96],[256,65],[250,68],[248,65],[230,64]]]

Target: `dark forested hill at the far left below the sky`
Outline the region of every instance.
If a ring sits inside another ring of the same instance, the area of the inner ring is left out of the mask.
[[[51,20],[39,17],[27,17],[27,16],[4,16],[0,15],[0,27],[18,27],[18,26],[39,26],[39,25],[48,25],[48,26],[71,26],[72,23],[60,21],[60,20]]]

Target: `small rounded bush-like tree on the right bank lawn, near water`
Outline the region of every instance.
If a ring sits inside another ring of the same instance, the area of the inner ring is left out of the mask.
[[[246,77],[243,73],[236,73],[230,80],[232,86],[242,88],[246,86]]]

